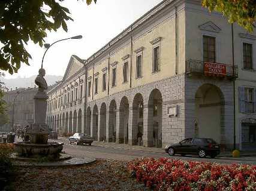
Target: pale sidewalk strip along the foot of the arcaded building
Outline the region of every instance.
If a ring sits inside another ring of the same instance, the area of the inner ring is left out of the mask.
[[[67,140],[67,137],[58,137],[59,140]],[[165,153],[164,149],[155,147],[144,147],[144,146],[131,146],[129,144],[118,144],[118,143],[107,143],[103,141],[94,141],[92,143],[94,146],[101,147],[112,147],[116,149],[129,149],[129,150],[143,150],[144,152],[155,152],[155,153]],[[221,152],[219,157],[232,157],[231,151]],[[256,150],[252,151],[240,151],[240,156],[256,156]]]

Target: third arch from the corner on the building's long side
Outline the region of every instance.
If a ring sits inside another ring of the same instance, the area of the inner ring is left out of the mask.
[[[129,138],[129,100],[126,96],[122,97],[119,106],[119,128],[118,143],[128,143]]]

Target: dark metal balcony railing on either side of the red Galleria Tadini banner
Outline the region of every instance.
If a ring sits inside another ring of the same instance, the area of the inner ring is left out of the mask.
[[[204,74],[204,65],[209,62],[201,61],[201,60],[187,60],[186,61],[186,73],[198,73],[198,74]],[[212,63],[215,65],[225,65],[226,67],[226,74],[225,76],[230,78],[237,78],[238,77],[238,69],[237,66],[232,66],[230,64],[224,64],[224,63]],[[234,70],[234,73],[233,73]]]

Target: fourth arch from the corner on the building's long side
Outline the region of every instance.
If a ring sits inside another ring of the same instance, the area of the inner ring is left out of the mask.
[[[109,142],[116,142],[116,100],[109,104]]]

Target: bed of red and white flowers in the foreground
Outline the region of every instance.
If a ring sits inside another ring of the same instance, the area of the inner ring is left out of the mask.
[[[140,158],[128,170],[154,190],[256,190],[255,165]]]

